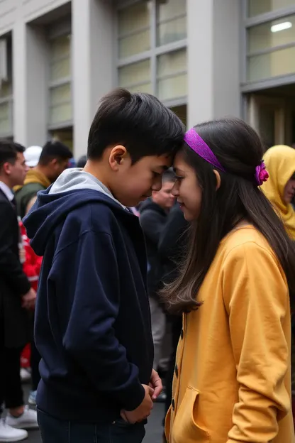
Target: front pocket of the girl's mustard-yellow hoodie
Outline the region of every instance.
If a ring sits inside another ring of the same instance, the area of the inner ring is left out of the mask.
[[[210,435],[197,424],[199,391],[189,386],[174,416],[171,443],[208,443]]]

